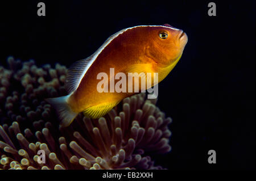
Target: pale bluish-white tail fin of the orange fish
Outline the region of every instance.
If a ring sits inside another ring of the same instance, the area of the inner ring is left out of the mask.
[[[69,95],[59,98],[48,98],[46,101],[55,108],[59,119],[61,120],[60,127],[68,127],[76,118],[78,113],[73,112],[67,103]]]

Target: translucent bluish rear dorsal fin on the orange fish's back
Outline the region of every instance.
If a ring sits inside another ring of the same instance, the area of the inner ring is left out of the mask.
[[[68,69],[67,79],[65,82],[65,89],[68,94],[75,91],[79,86],[82,78],[84,77],[86,71],[90,68],[94,61],[93,55],[85,58],[83,60],[76,61]]]

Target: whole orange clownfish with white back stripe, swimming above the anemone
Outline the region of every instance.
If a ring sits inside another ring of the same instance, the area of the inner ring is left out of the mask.
[[[110,36],[91,56],[71,65],[65,82],[68,95],[47,99],[59,115],[60,127],[67,127],[80,112],[92,119],[104,116],[122,99],[136,94],[97,91],[99,73],[110,75],[112,68],[115,73],[158,73],[158,82],[147,85],[148,89],[170,73],[187,41],[183,30],[169,24],[135,26]]]

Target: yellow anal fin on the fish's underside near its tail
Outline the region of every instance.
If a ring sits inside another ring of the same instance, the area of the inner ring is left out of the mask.
[[[118,102],[108,103],[108,104],[99,104],[97,106],[92,106],[84,110],[84,115],[92,119],[98,119],[112,110],[113,107],[117,106]]]

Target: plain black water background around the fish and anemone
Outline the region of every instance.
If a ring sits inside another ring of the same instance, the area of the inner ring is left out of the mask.
[[[46,3],[46,16],[37,4]],[[169,23],[188,44],[159,84],[158,106],[173,123],[168,169],[255,169],[255,1],[8,1],[0,3],[0,65],[14,56],[71,65],[113,33]],[[209,165],[208,150],[217,164]]]

